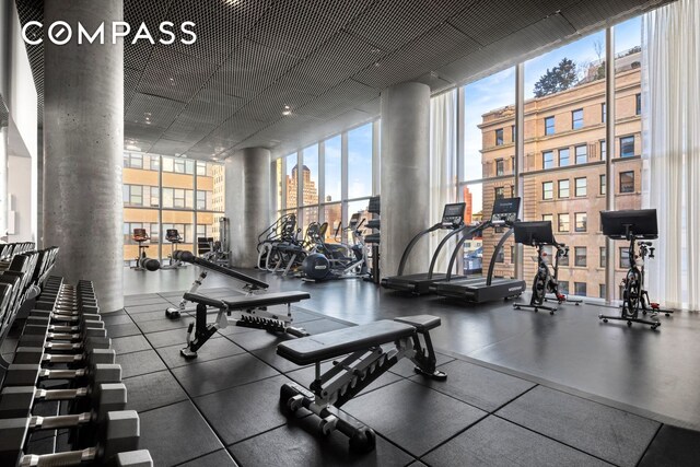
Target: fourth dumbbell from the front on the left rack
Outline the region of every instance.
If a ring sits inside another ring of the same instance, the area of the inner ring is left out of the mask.
[[[4,386],[36,386],[45,380],[80,382],[121,381],[121,365],[96,363],[78,370],[47,370],[37,364],[12,363],[4,376]]]

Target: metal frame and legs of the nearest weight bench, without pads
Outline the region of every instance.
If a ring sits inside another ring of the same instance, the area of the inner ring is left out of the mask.
[[[410,324],[410,317],[397,320]],[[420,336],[423,337],[422,345]],[[342,407],[404,358],[416,364],[413,370],[420,375],[435,381],[447,378],[444,372],[435,367],[436,358],[430,329],[417,327],[412,336],[394,341],[392,349],[375,346],[359,350],[341,361],[334,360],[332,367],[324,373],[320,371],[322,362],[315,362],[315,378],[310,385],[311,392],[294,383],[282,385],[280,408],[289,415],[303,407],[320,418],[319,429],[324,435],[338,430],[349,437],[351,451],[370,452],[376,444],[374,431],[338,418],[330,411],[330,406]]]

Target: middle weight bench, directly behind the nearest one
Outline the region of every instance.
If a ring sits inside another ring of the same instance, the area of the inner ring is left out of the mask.
[[[196,359],[197,350],[209,340],[218,329],[228,326],[243,326],[266,329],[271,332],[285,332],[295,337],[308,336],[304,329],[292,324],[291,304],[310,299],[307,292],[277,292],[261,295],[244,295],[235,300],[210,299],[196,293],[186,293],[183,299],[197,304],[195,323],[187,328],[187,346],[179,352],[186,359]],[[287,315],[267,311],[268,306],[287,305]],[[218,308],[217,319],[207,324],[208,307]],[[237,318],[231,312],[241,312]],[[195,337],[192,338],[192,331]]]

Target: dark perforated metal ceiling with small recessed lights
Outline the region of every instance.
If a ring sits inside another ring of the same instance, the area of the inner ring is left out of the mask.
[[[42,21],[43,0],[15,1]],[[385,86],[438,93],[668,1],[125,0],[131,24],[192,21],[198,36],[125,44],[125,145],[279,154],[374,118]],[[27,52],[42,113],[43,47]]]

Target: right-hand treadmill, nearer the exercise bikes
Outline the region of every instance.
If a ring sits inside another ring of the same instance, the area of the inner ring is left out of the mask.
[[[455,264],[457,255],[462,253],[464,243],[471,238],[476,233],[480,233],[489,227],[509,227],[503,234],[501,241],[495,246],[495,252],[501,249],[505,241],[513,234],[513,225],[517,220],[517,213],[521,207],[521,198],[501,198],[493,203],[493,212],[491,219],[482,222],[476,227],[467,231],[465,235],[457,242],[457,246],[452,253],[447,275],[443,281],[434,282],[430,290],[439,295],[459,299],[471,303],[483,303],[493,300],[502,300],[520,296],[525,291],[525,281],[521,279],[494,278],[493,268],[495,267],[495,254],[491,257],[489,264],[489,272],[486,277],[470,278],[452,276],[452,268]]]

